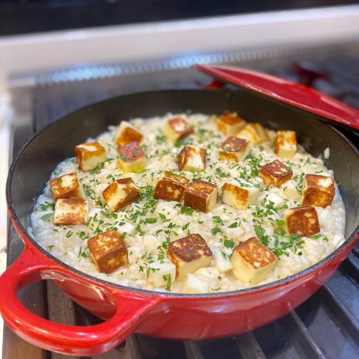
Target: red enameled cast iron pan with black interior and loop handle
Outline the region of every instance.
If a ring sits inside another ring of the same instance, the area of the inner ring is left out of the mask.
[[[347,211],[346,241],[329,257],[291,277],[246,290],[185,295],[150,292],[95,279],[61,263],[27,233],[33,198],[42,192],[56,165],[73,156],[74,146],[135,117],[179,113],[237,111],[248,121],[272,129],[292,129],[305,149],[319,156],[330,148],[327,166]],[[33,136],[17,153],[9,172],[9,214],[25,249],[0,277],[0,313],[23,339],[47,350],[92,356],[119,344],[136,331],[169,339],[210,339],[263,326],[311,296],[334,272],[358,239],[359,153],[333,126],[317,116],[248,91],[163,90],[112,98],[78,110]],[[16,297],[22,287],[53,279],[72,299],[106,320],[74,327],[39,318]]]

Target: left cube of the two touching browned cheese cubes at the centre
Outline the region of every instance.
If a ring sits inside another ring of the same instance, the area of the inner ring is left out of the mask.
[[[188,184],[189,180],[185,177],[164,171],[161,178],[157,181],[156,188],[153,191],[153,198],[156,200],[180,202]]]

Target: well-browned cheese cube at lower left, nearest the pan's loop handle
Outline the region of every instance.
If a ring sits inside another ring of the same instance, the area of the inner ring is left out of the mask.
[[[111,273],[128,264],[127,248],[115,231],[91,237],[87,245],[99,272]]]

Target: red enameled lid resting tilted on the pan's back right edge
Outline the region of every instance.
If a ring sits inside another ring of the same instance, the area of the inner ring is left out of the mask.
[[[262,72],[234,66],[199,65],[196,67],[222,82],[240,86],[301,110],[319,115],[320,120],[359,131],[359,110],[324,93]]]

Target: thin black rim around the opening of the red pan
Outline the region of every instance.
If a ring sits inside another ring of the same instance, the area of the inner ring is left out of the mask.
[[[178,299],[210,299],[210,298],[230,298],[230,297],[235,297],[235,296],[240,296],[240,295],[245,295],[245,294],[249,294],[249,293],[254,293],[254,292],[261,292],[267,289],[273,289],[275,287],[279,287],[282,285],[286,285],[289,284],[292,281],[295,281],[297,279],[299,279],[302,276],[305,276],[307,274],[310,274],[311,272],[314,272],[315,270],[319,269],[320,267],[324,266],[326,263],[328,263],[329,261],[331,261],[334,257],[336,257],[340,252],[342,252],[343,250],[345,250],[348,246],[350,246],[352,244],[352,242],[354,242],[356,240],[357,235],[359,234],[359,224],[356,227],[356,229],[354,230],[354,232],[349,236],[348,239],[346,239],[344,241],[344,243],[337,248],[334,252],[332,252],[328,257],[322,259],[321,261],[319,261],[318,263],[314,264],[311,267],[308,267],[304,270],[299,271],[298,273],[295,273],[289,277],[286,278],[282,278],[282,279],[278,279],[274,282],[270,282],[270,283],[266,283],[266,284],[262,284],[260,286],[255,286],[255,287],[251,287],[251,288],[246,288],[246,289],[239,289],[236,291],[230,291],[230,292],[220,292],[220,293],[205,293],[205,294],[183,294],[183,293],[164,293],[164,292],[156,292],[156,291],[148,291],[145,289],[137,289],[137,288],[131,288],[131,287],[126,287],[126,286],[122,286],[119,284],[115,284],[103,279],[99,279],[96,277],[91,276],[90,274],[87,274],[85,272],[82,272],[81,270],[75,269],[70,267],[69,265],[61,262],[59,259],[57,259],[56,257],[54,257],[52,254],[50,254],[48,251],[46,251],[43,247],[41,247],[34,239],[32,239],[30,237],[30,235],[28,234],[27,230],[23,227],[23,225],[20,223],[15,210],[12,206],[12,201],[11,201],[11,179],[12,179],[12,175],[14,172],[14,168],[17,164],[17,161],[19,160],[19,158],[21,157],[22,153],[24,152],[24,150],[30,145],[30,143],[32,142],[32,140],[37,137],[38,135],[40,135],[43,131],[46,131],[48,128],[50,128],[51,126],[53,126],[55,123],[57,123],[58,121],[60,121],[61,119],[63,119],[64,117],[76,113],[77,111],[82,111],[84,108],[87,108],[89,106],[95,106],[101,103],[104,103],[108,100],[112,100],[114,98],[117,97],[125,97],[125,96],[133,96],[136,94],[147,94],[147,93],[151,93],[153,94],[154,92],[179,92],[179,91],[188,91],[188,92],[195,92],[195,91],[218,91],[218,92],[223,92],[223,93],[234,93],[234,94],[238,94],[237,91],[233,91],[233,90],[223,90],[223,89],[174,89],[174,90],[156,90],[156,91],[142,91],[142,92],[133,92],[133,93],[128,93],[128,94],[124,94],[124,95],[120,95],[120,96],[116,96],[113,98],[109,98],[103,101],[99,101],[93,104],[90,104],[88,106],[85,106],[83,108],[80,108],[78,110],[75,110],[61,118],[59,118],[58,120],[50,123],[49,125],[47,125],[45,128],[43,128],[41,131],[35,133],[34,135],[32,135],[28,141],[25,142],[25,144],[20,148],[20,150],[18,150],[18,152],[16,153],[16,155],[14,156],[11,166],[9,168],[9,174],[7,177],[7,181],[6,181],[6,201],[8,204],[8,210],[10,212],[10,215],[12,217],[12,220],[16,223],[16,225],[18,226],[18,228],[22,231],[22,234],[30,241],[30,243],[32,245],[34,245],[36,247],[37,250],[39,250],[42,254],[44,254],[46,257],[50,258],[52,261],[54,261],[55,263],[59,264],[61,267],[69,270],[70,272],[73,272],[77,275],[79,275],[80,277],[84,277],[88,280],[97,282],[99,284],[105,285],[105,286],[110,286],[113,287],[115,289],[120,289],[122,291],[127,291],[127,292],[134,292],[134,293],[138,293],[138,294],[142,294],[145,296],[157,296],[157,297],[163,297],[164,299],[172,299],[172,298],[178,298]],[[313,118],[313,121],[319,121],[318,119]],[[339,135],[340,137],[343,138],[343,140],[351,147],[351,149],[356,153],[358,159],[359,159],[359,150],[353,145],[353,143],[346,137],[344,136],[338,129],[336,129],[333,125],[329,124],[329,123],[324,123],[326,126],[328,126],[333,132],[335,132],[337,135]],[[24,249],[24,251],[26,250],[26,248]],[[20,254],[21,256],[21,254]],[[19,257],[20,257],[19,256]]]

